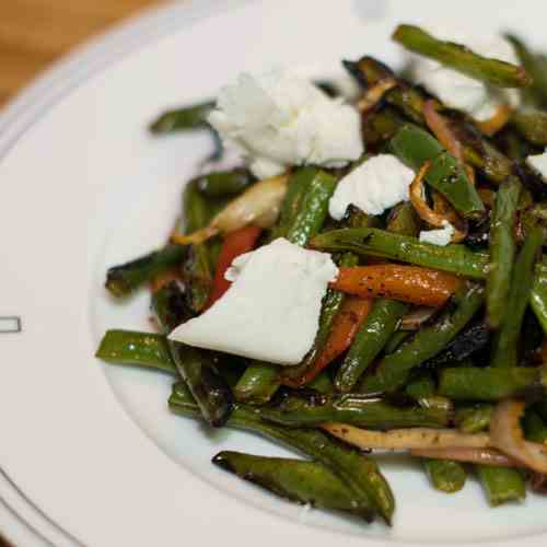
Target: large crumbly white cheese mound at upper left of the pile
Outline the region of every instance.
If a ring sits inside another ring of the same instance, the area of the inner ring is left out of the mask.
[[[258,178],[291,165],[341,167],[363,153],[359,112],[283,69],[240,74],[208,119]]]

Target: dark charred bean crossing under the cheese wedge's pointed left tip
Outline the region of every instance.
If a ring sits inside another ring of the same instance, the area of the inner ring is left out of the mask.
[[[155,292],[152,307],[164,333],[171,333],[187,319],[184,294],[177,283],[168,283]],[[187,383],[205,420],[223,426],[232,411],[232,393],[218,373],[212,352],[168,340],[176,369]]]

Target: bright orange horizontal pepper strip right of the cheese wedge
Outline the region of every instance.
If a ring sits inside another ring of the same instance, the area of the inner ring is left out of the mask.
[[[340,268],[330,283],[337,291],[361,298],[387,298],[410,304],[441,306],[459,287],[450,274],[418,266],[383,264]]]

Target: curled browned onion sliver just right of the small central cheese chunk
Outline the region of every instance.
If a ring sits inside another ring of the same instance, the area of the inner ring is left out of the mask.
[[[426,161],[420,167],[420,171],[416,175],[415,179],[410,184],[410,202],[416,209],[418,217],[421,220],[431,224],[434,228],[442,228],[446,222],[450,222],[454,226],[454,235],[452,236],[452,243],[458,243],[463,241],[467,235],[467,228],[465,222],[461,221],[456,212],[452,209],[452,206],[438,193],[437,202],[438,208],[441,209],[441,199],[444,200],[442,205],[442,212],[435,212],[429,207],[426,201],[426,193],[423,190],[423,179],[431,167],[431,162]]]

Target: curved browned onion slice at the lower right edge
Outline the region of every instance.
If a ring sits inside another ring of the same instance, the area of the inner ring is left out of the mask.
[[[524,440],[520,422],[524,407],[522,400],[508,399],[498,404],[490,420],[492,446],[526,467],[547,474],[547,445]]]

